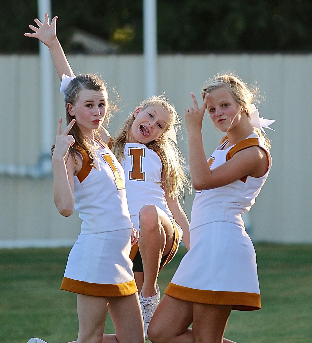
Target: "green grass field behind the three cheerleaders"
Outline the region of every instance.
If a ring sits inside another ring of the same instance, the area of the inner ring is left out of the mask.
[[[77,338],[76,295],[59,289],[69,248],[0,250],[0,343]],[[158,277],[166,288],[186,252]],[[262,306],[233,311],[225,337],[240,343],[312,342],[312,245],[256,245]],[[113,332],[110,320],[105,332]]]

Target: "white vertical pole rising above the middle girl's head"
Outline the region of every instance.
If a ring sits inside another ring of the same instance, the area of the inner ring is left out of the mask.
[[[143,0],[143,54],[148,98],[157,94],[157,0]]]

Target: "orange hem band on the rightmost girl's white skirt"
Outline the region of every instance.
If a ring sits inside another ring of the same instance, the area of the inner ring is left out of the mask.
[[[260,294],[245,292],[205,291],[169,283],[165,294],[190,301],[211,305],[233,305],[233,310],[254,311],[261,308]]]

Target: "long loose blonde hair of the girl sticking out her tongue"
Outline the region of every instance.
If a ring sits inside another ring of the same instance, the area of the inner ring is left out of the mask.
[[[154,96],[141,102],[138,106],[141,110],[151,106],[163,106],[170,115],[170,122],[164,133],[174,128],[180,128],[180,119],[175,108],[169,103],[164,95]],[[129,131],[135,120],[135,111],[125,120],[123,126],[115,134],[111,144],[111,150],[119,161],[124,159],[124,146],[129,139]],[[184,187],[190,188],[189,179],[185,173],[185,159],[181,155],[176,144],[168,137],[161,135],[159,140],[153,140],[146,144],[149,149],[154,150],[160,157],[163,164],[162,182],[161,184],[168,190],[170,198],[179,198],[184,194]]]

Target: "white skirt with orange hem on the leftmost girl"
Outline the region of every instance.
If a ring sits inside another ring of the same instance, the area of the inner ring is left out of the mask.
[[[80,234],[71,249],[61,289],[94,296],[125,296],[137,291],[131,229]]]

